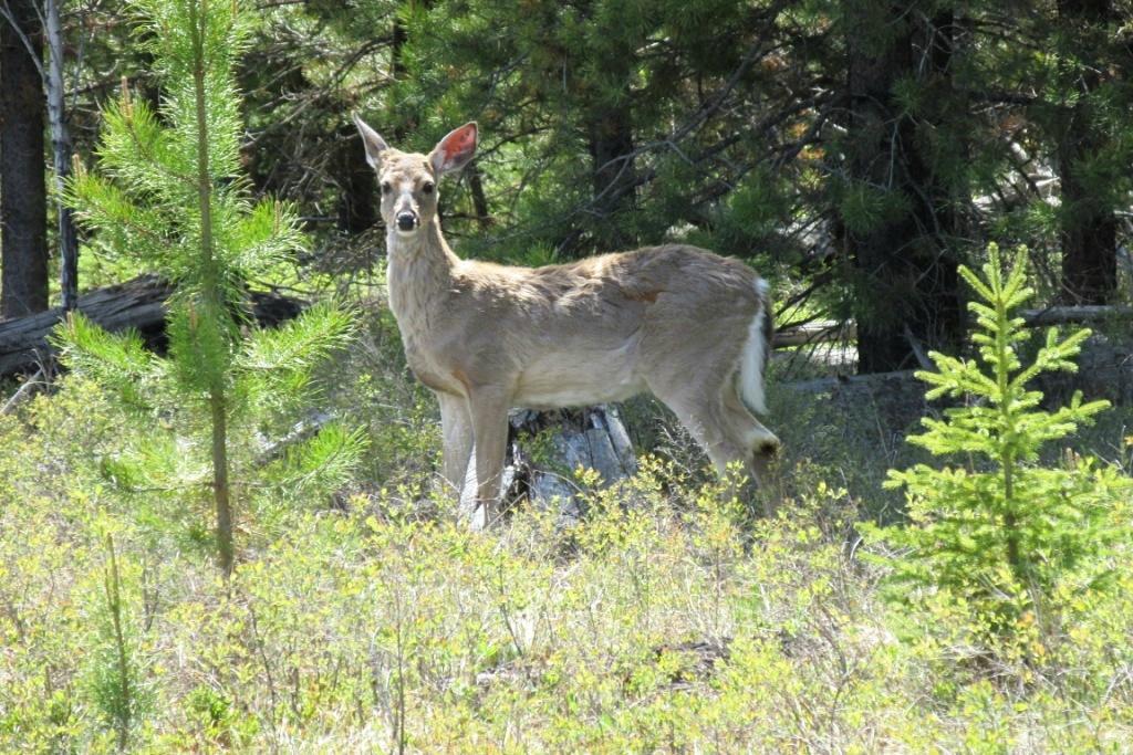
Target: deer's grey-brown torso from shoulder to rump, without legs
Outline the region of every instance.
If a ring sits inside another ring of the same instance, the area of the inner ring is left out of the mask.
[[[462,380],[508,376],[518,404],[617,401],[666,363],[738,355],[756,281],[736,260],[676,244],[539,268],[465,261],[438,343]]]

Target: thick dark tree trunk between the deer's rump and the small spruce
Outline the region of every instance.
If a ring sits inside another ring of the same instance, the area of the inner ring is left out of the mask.
[[[914,343],[955,352],[963,335],[956,218],[949,188],[925,154],[926,130],[946,118],[938,102],[955,93],[948,76],[953,18],[922,19],[909,2],[886,5],[892,35],[847,3],[850,49],[849,191],[880,201],[845,231],[857,265],[859,369],[877,372],[915,363]],[[869,42],[863,40],[869,36]],[[920,112],[903,112],[894,89],[917,78],[929,93]],[[955,158],[955,157],[953,157]],[[879,198],[878,198],[879,197]],[[864,211],[862,211],[864,214]]]

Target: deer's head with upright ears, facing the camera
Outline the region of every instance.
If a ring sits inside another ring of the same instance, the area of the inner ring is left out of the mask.
[[[476,123],[450,131],[433,152],[423,155],[392,148],[357,114],[353,121],[366,145],[366,162],[377,172],[385,228],[403,238],[415,235],[436,217],[437,180],[459,171],[476,154]]]

